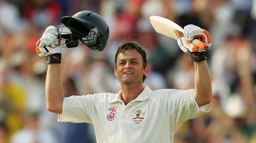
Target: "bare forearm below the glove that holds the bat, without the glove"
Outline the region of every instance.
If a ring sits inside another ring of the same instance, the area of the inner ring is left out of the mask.
[[[194,62],[195,98],[199,107],[211,102],[211,76],[206,60]]]

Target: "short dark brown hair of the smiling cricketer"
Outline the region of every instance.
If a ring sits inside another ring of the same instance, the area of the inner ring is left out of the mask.
[[[129,42],[126,42],[126,43],[123,43],[123,45],[121,45],[120,47],[118,47],[117,49],[117,52],[116,52],[116,56],[115,56],[115,66],[116,66],[116,60],[117,60],[117,56],[118,54],[120,53],[123,53],[127,50],[136,50],[140,53],[140,55],[142,56],[142,59],[143,59],[143,68],[145,69],[148,61],[147,61],[147,54],[146,52],[140,47],[140,45],[135,42],[135,41],[129,41]],[[143,75],[142,77],[142,83],[144,82],[144,80],[146,79],[146,75]]]

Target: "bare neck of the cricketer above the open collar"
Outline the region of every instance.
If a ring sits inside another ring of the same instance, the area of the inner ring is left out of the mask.
[[[127,105],[129,102],[135,100],[143,91],[143,85],[123,85],[121,84],[122,95],[121,100]]]

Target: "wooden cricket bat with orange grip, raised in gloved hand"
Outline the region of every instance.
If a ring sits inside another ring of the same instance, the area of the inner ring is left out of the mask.
[[[172,22],[171,20],[168,20],[161,16],[150,16],[149,20],[157,33],[163,34],[175,40],[178,40],[179,38],[183,37],[184,29],[180,27],[178,24]],[[203,43],[198,39],[192,40],[192,44],[198,46],[203,50],[208,49],[206,43]]]

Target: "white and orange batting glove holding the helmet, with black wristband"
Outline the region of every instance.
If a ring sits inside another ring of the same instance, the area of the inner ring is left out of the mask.
[[[61,51],[64,39],[57,39],[56,27],[49,26],[36,43],[36,51],[40,58],[48,58],[48,64],[61,62]]]

